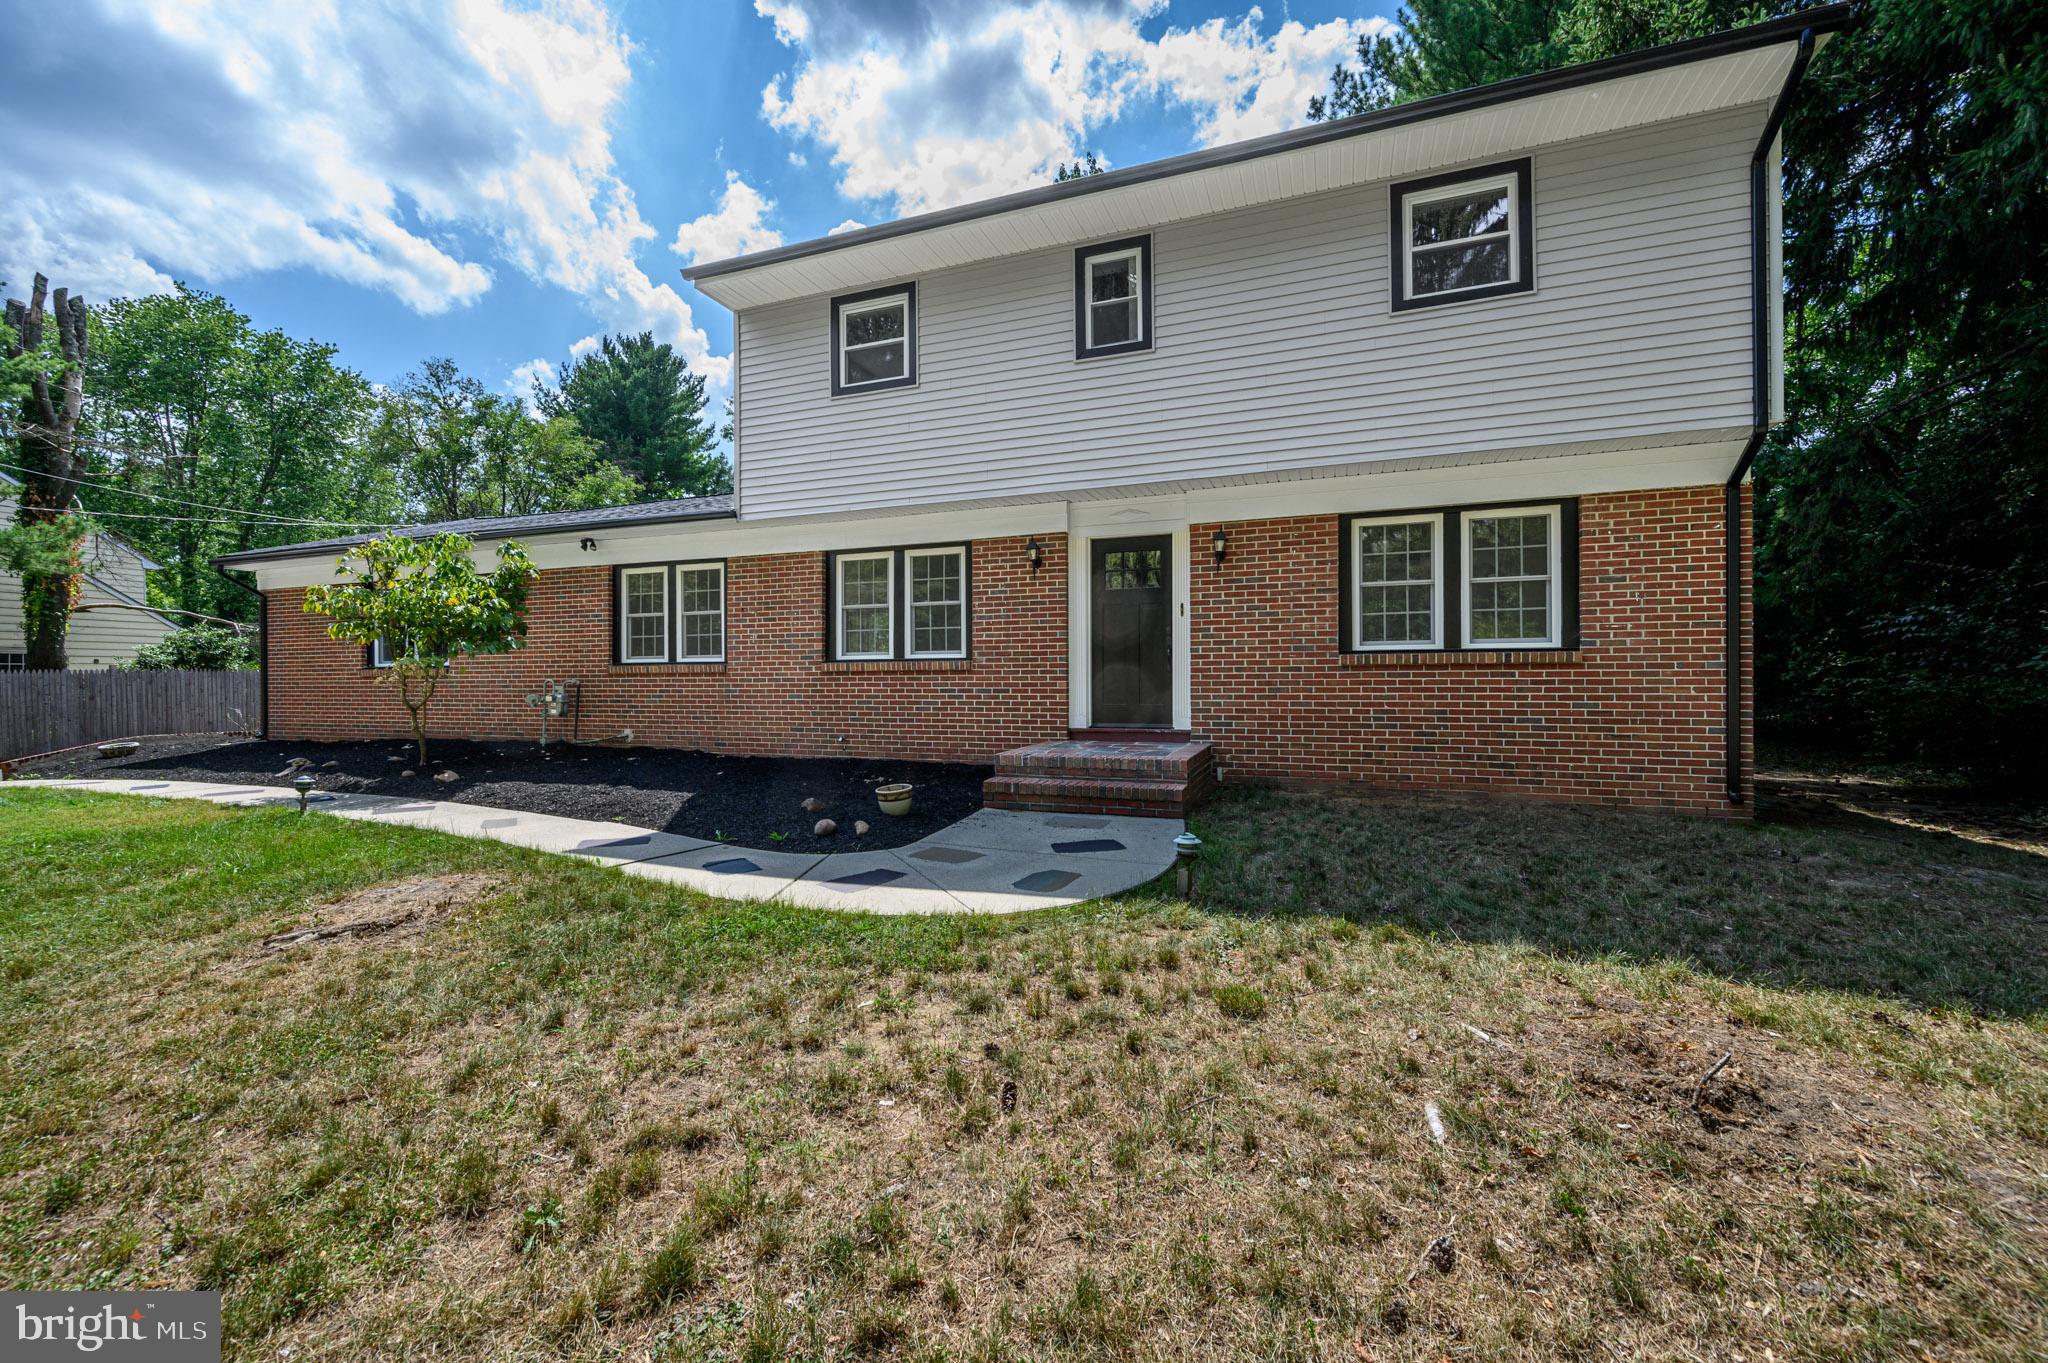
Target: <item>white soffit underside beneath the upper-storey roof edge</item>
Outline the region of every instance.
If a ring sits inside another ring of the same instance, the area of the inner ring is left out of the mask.
[[[1647,123],[1763,104],[1784,86],[1794,51],[1796,43],[1788,39],[815,256],[774,260],[752,270],[698,278],[696,287],[735,311],[786,303],[1020,252],[1130,235],[1190,217],[1497,160]]]

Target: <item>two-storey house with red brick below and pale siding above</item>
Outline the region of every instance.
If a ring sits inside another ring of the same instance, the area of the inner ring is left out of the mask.
[[[1778,123],[1845,20],[688,270],[735,313],[735,495],[455,526],[545,571],[436,729],[532,737],[573,677],[584,737],[719,751],[1192,737],[1006,757],[1010,804],[1178,808],[1214,759],[1741,810]],[[301,610],[342,544],[223,559],[276,737],[403,733]]]

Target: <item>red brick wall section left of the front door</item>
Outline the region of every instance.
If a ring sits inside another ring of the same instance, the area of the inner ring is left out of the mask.
[[[727,561],[725,663],[621,667],[612,569],[547,571],[528,598],[528,647],[459,663],[428,708],[430,733],[535,739],[526,694],[578,677],[586,739],[633,729],[635,743],[662,747],[989,761],[1067,733],[1067,542],[1038,544],[1044,567],[1032,573],[1022,538],[975,542],[969,661],[827,663],[823,555],[803,553]],[[272,737],[408,733],[395,688],[303,602],[270,593]]]

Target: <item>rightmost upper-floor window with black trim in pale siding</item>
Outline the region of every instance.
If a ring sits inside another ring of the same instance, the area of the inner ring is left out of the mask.
[[[1395,184],[1395,311],[1536,287],[1530,162]]]

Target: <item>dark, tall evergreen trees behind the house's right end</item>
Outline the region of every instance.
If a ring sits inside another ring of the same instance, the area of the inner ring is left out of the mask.
[[[1798,2],[1417,0],[1313,117]],[[1886,757],[2048,761],[2048,12],[1870,0],[1786,123],[1786,422],[1755,465],[1759,706]]]

